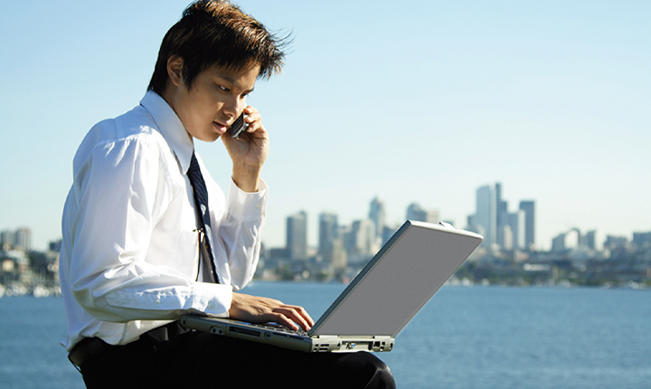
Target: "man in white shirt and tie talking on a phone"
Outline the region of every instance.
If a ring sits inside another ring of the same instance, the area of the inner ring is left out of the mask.
[[[329,387],[316,378],[324,373],[343,380],[338,387],[394,386],[368,353],[308,355],[176,321],[202,313],[314,324],[304,308],[237,292],[257,265],[268,193],[260,171],[269,133],[246,97],[280,70],[281,46],[234,5],[190,5],[165,34],[140,105],[82,141],[63,210],[60,275],[63,343],[88,387]],[[242,113],[248,128],[233,138],[228,129]],[[194,153],[194,139],[217,138],[232,160],[228,196]],[[282,361],[293,369],[287,377]]]

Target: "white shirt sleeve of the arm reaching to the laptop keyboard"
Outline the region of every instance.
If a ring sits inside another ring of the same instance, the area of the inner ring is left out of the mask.
[[[196,282],[146,261],[156,222],[173,195],[156,141],[100,144],[76,173],[70,284],[93,317],[110,322],[227,316],[231,286]]]

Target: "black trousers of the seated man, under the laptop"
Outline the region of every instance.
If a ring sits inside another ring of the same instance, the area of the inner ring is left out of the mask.
[[[395,388],[367,352],[304,353],[195,331],[108,346],[80,371],[88,388]]]

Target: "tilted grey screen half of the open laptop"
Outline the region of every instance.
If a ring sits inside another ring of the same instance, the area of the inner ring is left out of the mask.
[[[473,232],[407,221],[310,335],[395,337],[482,240]]]

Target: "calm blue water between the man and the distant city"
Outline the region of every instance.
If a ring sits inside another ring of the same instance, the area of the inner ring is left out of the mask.
[[[317,318],[343,289],[245,290]],[[83,388],[58,344],[63,331],[61,299],[0,299],[0,388]],[[651,292],[444,287],[377,356],[401,388],[651,388]]]

